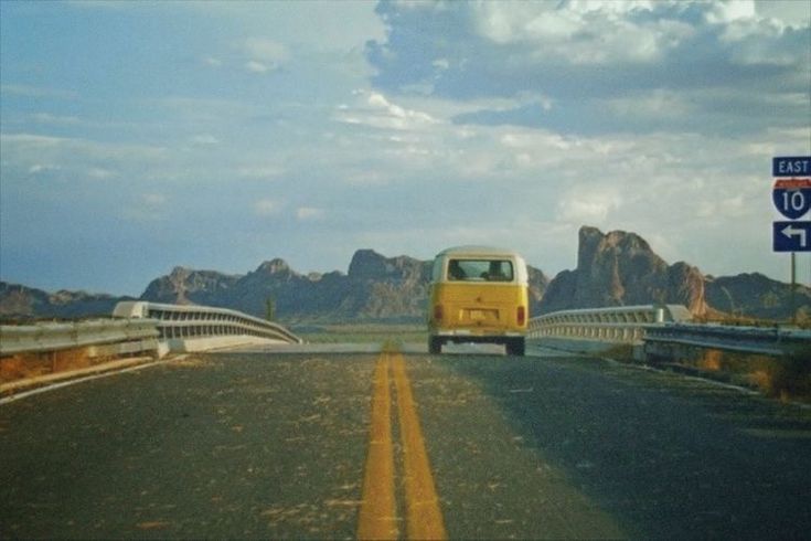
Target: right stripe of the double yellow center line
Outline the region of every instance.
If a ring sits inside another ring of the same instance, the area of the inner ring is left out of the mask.
[[[409,539],[447,539],[439,497],[434,485],[423,431],[412,395],[412,385],[402,353],[394,354],[394,384],[397,389],[399,433],[406,488],[406,530]]]

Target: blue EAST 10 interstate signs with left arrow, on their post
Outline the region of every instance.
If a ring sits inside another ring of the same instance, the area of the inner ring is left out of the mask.
[[[783,156],[771,160],[775,185],[771,201],[790,221],[773,222],[771,247],[791,253],[791,321],[797,322],[797,252],[811,252],[811,221],[801,219],[811,210],[811,156]]]

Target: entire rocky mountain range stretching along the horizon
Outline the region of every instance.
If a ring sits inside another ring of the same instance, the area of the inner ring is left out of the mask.
[[[348,273],[297,273],[282,259],[262,263],[245,275],[175,267],[149,283],[142,300],[218,306],[265,317],[268,300],[282,321],[421,321],[428,303],[431,262],[405,255],[386,257],[359,250]],[[554,279],[530,267],[530,312],[570,308],[685,305],[695,316],[724,312],[788,319],[788,284],[760,274],[704,276],[696,267],[668,264],[636,233],[578,233],[577,267]],[[0,317],[73,318],[109,315],[129,297],[57,291],[49,294],[0,282]],[[811,316],[811,289],[798,286],[799,314]]]

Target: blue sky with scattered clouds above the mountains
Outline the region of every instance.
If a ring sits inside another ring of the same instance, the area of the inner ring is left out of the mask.
[[[137,296],[178,265],[346,272],[359,248],[462,244],[554,276],[590,225],[787,282],[771,158],[811,155],[810,20],[804,1],[0,0],[0,279]]]

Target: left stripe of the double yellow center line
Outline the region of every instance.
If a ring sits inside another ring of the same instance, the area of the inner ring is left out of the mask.
[[[374,369],[372,425],[363,478],[363,501],[358,519],[359,539],[397,539],[398,533],[388,364],[388,354],[382,353]]]

